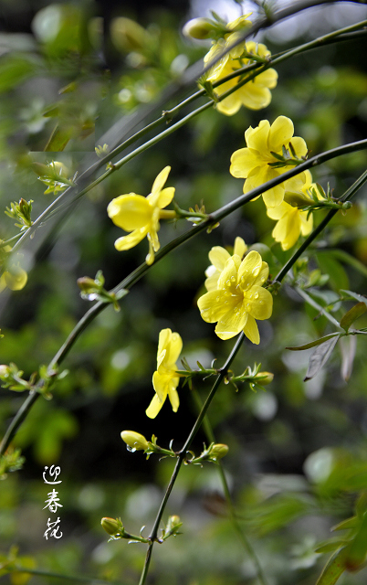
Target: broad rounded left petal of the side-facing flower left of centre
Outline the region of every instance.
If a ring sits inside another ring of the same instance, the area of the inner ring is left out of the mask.
[[[152,219],[153,207],[142,195],[121,195],[112,199],[107,213],[113,223],[125,231],[142,229]]]

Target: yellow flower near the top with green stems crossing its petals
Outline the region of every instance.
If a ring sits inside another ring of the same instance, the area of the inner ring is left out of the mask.
[[[231,35],[231,37],[233,37],[235,34],[236,33]],[[231,42],[233,41],[231,40]],[[245,48],[244,45],[244,43],[239,45],[239,47],[242,49],[242,52]],[[224,47],[221,47],[220,49],[223,50]],[[235,49],[230,51],[230,55],[232,55],[234,51]],[[262,45],[261,43],[255,43],[254,41],[249,41],[246,43],[246,51],[259,57],[268,57],[271,55],[270,51],[267,50],[265,45]],[[214,55],[211,56],[211,58],[213,57]],[[247,57],[240,58],[240,60],[238,57],[227,58],[225,64],[222,65],[221,68],[215,68],[214,66],[213,71],[209,72],[209,77],[207,79],[212,82],[221,80],[226,75],[233,73],[236,69],[241,69],[242,67],[245,67],[252,62],[253,60]],[[225,81],[225,83],[215,88],[215,92],[221,96],[223,93],[225,93],[225,91],[236,87],[238,80],[240,80],[240,77]],[[271,101],[270,90],[274,89],[277,86],[277,83],[277,71],[275,69],[266,69],[257,75],[256,78],[248,81],[245,83],[245,85],[242,85],[240,88],[238,88],[238,90],[231,93],[231,95],[226,97],[223,101],[217,103],[216,109],[219,112],[225,113],[227,116],[232,116],[238,112],[242,105],[246,108],[249,108],[250,110],[261,110],[262,108],[266,108]]]

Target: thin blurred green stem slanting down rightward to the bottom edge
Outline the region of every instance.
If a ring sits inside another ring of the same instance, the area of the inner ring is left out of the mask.
[[[196,402],[197,408],[199,410],[201,410],[203,408],[203,403],[202,403],[202,401],[199,397],[199,394],[195,388],[193,388],[192,394],[194,396],[194,400]],[[205,431],[207,440],[209,442],[216,442],[215,434],[214,434],[214,431],[212,429],[212,425],[210,424],[207,416],[205,416],[205,418],[204,418],[203,427],[204,427],[204,431]],[[243,547],[245,548],[248,557],[251,558],[252,562],[254,563],[254,565],[257,569],[257,579],[258,579],[259,583],[261,585],[267,585],[267,579],[264,575],[263,569],[261,568],[260,562],[257,558],[257,554],[256,554],[254,548],[252,548],[249,540],[246,537],[246,534],[243,532],[243,530],[238,522],[238,519],[236,516],[235,506],[233,505],[232,497],[231,497],[231,494],[229,492],[229,486],[228,486],[228,483],[226,481],[223,463],[221,461],[218,461],[217,467],[218,467],[218,471],[219,471],[219,474],[221,477],[223,491],[225,493],[225,501],[226,501],[226,505],[228,506],[228,510],[229,510],[229,514],[231,516],[231,521],[232,521],[233,527],[235,528],[236,533],[237,533],[239,539],[241,540],[241,543],[242,543]]]

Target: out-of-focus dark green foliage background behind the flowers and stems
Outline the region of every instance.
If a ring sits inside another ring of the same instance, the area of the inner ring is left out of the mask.
[[[189,42],[178,32],[190,17],[188,5],[173,3],[172,9],[168,2],[142,3],[138,12],[130,4],[113,5],[103,18],[101,4],[91,2],[35,2],[32,14],[20,0],[3,3],[0,199],[4,210],[23,197],[32,200],[32,219],[37,218],[57,196],[45,194],[33,163],[58,161],[68,168],[68,177],[75,176],[85,154],[103,146],[100,138],[113,123],[122,117],[130,121],[190,64],[204,57],[207,42]],[[232,9],[235,4],[229,5]],[[12,25],[15,11],[19,20]],[[136,22],[131,25],[127,19]],[[274,54],[311,35],[309,27],[309,36],[277,44],[265,32],[262,42]],[[106,213],[113,197],[149,193],[153,178],[171,165],[170,185],[176,188],[180,207],[204,201],[207,212],[214,211],[241,194],[242,181],[228,173],[230,155],[245,146],[246,128],[264,118],[291,118],[311,154],[364,138],[364,43],[363,38],[355,39],[284,61],[278,67],[278,87],[264,112],[242,109],[229,118],[215,109],[204,112],[96,186],[72,212],[57,216],[48,235],[47,229],[38,230],[21,250],[22,266],[28,272],[26,288],[1,295],[5,335],[0,340],[1,363],[16,363],[28,379],[39,365],[49,363],[89,309],[80,298],[77,280],[94,278],[102,270],[109,290],[144,261],[143,243],[122,253],[113,247],[121,235]],[[177,102],[167,101],[164,109]],[[361,175],[366,161],[362,151],[331,160],[312,173],[324,188],[330,182],[339,197]],[[324,214],[317,212],[316,222]],[[183,223],[162,225],[162,245],[185,229]],[[156,420],[145,416],[152,399],[159,332],[164,327],[180,332],[182,355],[191,367],[196,360],[210,367],[214,358],[215,367],[220,367],[233,344],[217,339],[214,326],[204,323],[196,307],[204,293],[208,251],[215,245],[230,248],[240,236],[261,252],[274,278],[291,250],[285,252],[274,244],[272,229],[260,199],[237,210],[211,234],[189,240],[154,264],[121,300],[120,313],[112,306],[106,308],[79,337],[65,361],[68,376],[58,381],[52,400],[38,399],[16,436],[15,451],[7,462],[0,462],[2,476],[7,475],[0,482],[0,576],[5,582],[24,585],[28,580],[26,573],[8,572],[15,566],[121,584],[138,582],[145,548],[107,542],[100,518],[121,517],[133,534],[147,525],[143,535],[149,534],[173,462],[153,456],[147,462],[142,452],[127,452],[120,433],[124,429],[146,437],[155,433],[164,448],[172,439],[173,449],[184,444],[197,416],[188,385],[179,390],[177,414],[166,404]],[[14,234],[14,221],[4,215],[0,237]],[[271,320],[259,323],[261,345],[246,342],[236,356],[232,366],[236,373],[261,362],[263,370],[274,373],[274,381],[266,392],[257,393],[247,384],[238,384],[237,392],[223,385],[209,411],[215,440],[229,446],[224,467],[238,521],[269,584],[314,585],[327,553],[340,547],[343,566],[351,571],[341,577],[341,585],[365,583],[366,571],[355,570],[362,566],[367,514],[364,337],[358,336],[356,347],[351,346],[351,337],[346,346],[338,343],[326,366],[308,382],[304,377],[313,349],[293,353],[286,347],[302,346],[335,331],[322,310],[330,309],[340,321],[358,303],[345,292],[365,293],[366,264],[364,188],[351,210],[333,218],[307,251],[307,261],[301,259],[293,271],[292,284],[309,295],[313,306],[286,284],[275,297]],[[365,314],[357,325],[367,326]],[[210,384],[210,378],[195,382],[202,399]],[[24,398],[5,388],[0,396],[3,435]],[[208,442],[200,431],[194,451],[201,451],[203,441]],[[22,463],[22,470],[12,473]],[[63,537],[53,542],[43,537],[48,512],[42,509],[49,491],[42,473],[51,464],[61,468],[58,493],[63,505],[59,514]],[[214,464],[205,463],[202,469],[184,466],[163,520],[169,515],[180,516],[183,535],[154,548],[152,582],[257,582],[254,565],[231,524]],[[333,533],[330,538],[331,527],[351,518],[357,519],[341,537]],[[64,580],[34,575],[29,581],[30,585],[45,582]]]

